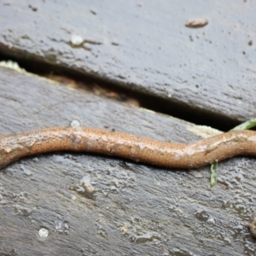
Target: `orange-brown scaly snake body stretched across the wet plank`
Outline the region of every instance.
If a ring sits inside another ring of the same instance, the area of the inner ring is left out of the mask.
[[[84,127],[55,127],[0,137],[0,168],[21,157],[54,151],[114,155],[168,168],[197,168],[235,155],[256,156],[256,131],[229,131],[189,144]]]

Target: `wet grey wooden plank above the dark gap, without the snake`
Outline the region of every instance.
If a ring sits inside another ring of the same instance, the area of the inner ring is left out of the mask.
[[[0,51],[166,99],[175,111],[243,121],[256,107],[255,8],[232,0],[2,1]],[[205,18],[207,26],[185,26]]]

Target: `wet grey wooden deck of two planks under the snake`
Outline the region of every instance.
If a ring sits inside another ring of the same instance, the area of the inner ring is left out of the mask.
[[[0,58],[105,81],[227,129],[255,117],[254,5],[4,1]],[[185,26],[195,18],[209,23]],[[75,119],[177,143],[219,132],[0,67],[1,135]],[[213,188],[209,170],[78,153],[19,160],[0,172],[0,255],[254,255],[243,222],[255,210],[255,159],[220,163]]]

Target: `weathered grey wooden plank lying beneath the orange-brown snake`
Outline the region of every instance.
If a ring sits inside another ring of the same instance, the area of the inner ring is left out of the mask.
[[[201,138],[181,120],[5,68],[0,91],[0,134],[79,119],[178,143]],[[209,167],[167,170],[71,153],[19,160],[0,172],[0,255],[254,255],[243,221],[255,207],[255,159],[218,168],[211,189]]]

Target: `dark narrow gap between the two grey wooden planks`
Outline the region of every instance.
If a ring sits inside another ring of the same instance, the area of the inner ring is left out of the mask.
[[[9,55],[3,52],[0,53],[0,61],[8,60],[16,61],[18,62],[19,66],[25,68],[27,72],[36,73],[41,76],[49,77],[49,75],[54,74],[58,76],[65,76],[68,79],[73,79],[77,82],[93,82],[94,84],[99,84],[102,88],[108,88],[108,90],[113,90],[117,94],[136,99],[143,108],[148,108],[158,113],[165,113],[178,119],[189,121],[196,125],[208,125],[220,131],[229,131],[239,124],[239,122],[234,119],[230,119],[229,117],[218,113],[213,113],[209,110],[196,107],[191,108],[189,104],[185,104],[183,102],[171,102],[170,100],[139,92],[134,86],[129,90],[128,88],[120,86],[119,84],[106,82],[104,79],[85,75],[83,73],[73,71],[68,67],[58,67],[52,64],[44,63],[40,60],[26,60],[25,58],[17,57],[17,55],[14,54]]]

